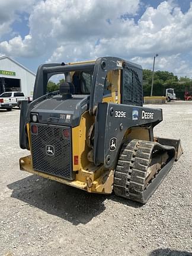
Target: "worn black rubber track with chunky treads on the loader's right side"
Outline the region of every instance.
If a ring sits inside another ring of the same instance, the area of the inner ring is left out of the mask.
[[[146,173],[154,151],[168,153],[167,163],[145,186]],[[114,193],[139,203],[146,203],[174,164],[175,148],[157,142],[134,139],[124,143],[114,174]]]

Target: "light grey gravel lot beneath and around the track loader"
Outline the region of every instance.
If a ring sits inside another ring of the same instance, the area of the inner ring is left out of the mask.
[[[19,170],[20,111],[0,110],[0,255],[192,255],[192,103],[163,108],[155,135],[184,154],[145,206]]]

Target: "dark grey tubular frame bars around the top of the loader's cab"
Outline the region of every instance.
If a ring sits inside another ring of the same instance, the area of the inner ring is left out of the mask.
[[[69,72],[72,71],[93,71],[91,94],[89,102],[89,113],[95,114],[98,103],[102,102],[104,92],[104,82],[107,72],[111,70],[123,69],[127,64],[142,69],[140,65],[126,62],[118,57],[99,57],[95,63],[79,63],[65,65],[64,63],[51,63],[39,66],[34,84],[33,100],[46,94],[46,87],[49,78],[59,73],[65,73],[66,81],[69,82]]]

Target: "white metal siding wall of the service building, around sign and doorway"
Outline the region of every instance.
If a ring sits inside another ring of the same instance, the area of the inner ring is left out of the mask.
[[[15,76],[8,76],[8,75],[0,75],[1,77],[5,78],[18,78],[21,79],[21,91],[24,92],[24,95],[29,96],[30,92],[33,91],[34,88],[34,81],[36,76],[28,72],[27,70],[23,69],[21,66],[18,66],[16,63],[12,62],[9,59],[1,59],[0,60],[0,70],[5,71],[14,71]]]

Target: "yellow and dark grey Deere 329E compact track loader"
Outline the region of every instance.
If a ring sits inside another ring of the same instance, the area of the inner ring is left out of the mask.
[[[47,93],[52,75],[64,74]],[[142,67],[118,57],[45,64],[22,103],[20,169],[90,193],[146,203],[182,151],[153,136],[162,110],[143,107]]]

